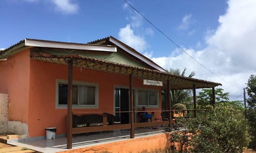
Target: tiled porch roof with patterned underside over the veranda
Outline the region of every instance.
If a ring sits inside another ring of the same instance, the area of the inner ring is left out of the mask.
[[[82,67],[122,75],[129,75],[132,73],[133,76],[136,78],[163,81],[163,90],[166,89],[167,80],[170,80],[171,90],[193,89],[193,84],[196,85],[197,89],[213,88],[221,85],[220,83],[196,78],[177,76],[168,72],[125,65],[82,55],[30,55],[30,58],[33,60],[51,62],[62,65],[68,65],[67,60],[70,59],[73,60],[73,64],[75,67]]]

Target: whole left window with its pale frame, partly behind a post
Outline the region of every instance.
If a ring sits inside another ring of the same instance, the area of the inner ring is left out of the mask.
[[[73,108],[98,108],[98,84],[73,81],[72,95]],[[67,108],[67,104],[67,80],[56,80],[56,108]]]

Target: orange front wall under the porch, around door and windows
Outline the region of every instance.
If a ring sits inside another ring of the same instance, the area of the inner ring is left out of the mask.
[[[56,127],[57,134],[66,133],[67,109],[55,109],[56,79],[68,79],[68,68],[65,65],[30,60],[29,85],[29,136],[45,135],[46,127]],[[114,85],[128,86],[129,78],[125,75],[105,73],[89,69],[74,68],[73,80],[99,84],[98,109],[73,109],[78,111],[113,111]],[[143,87],[159,90],[159,108],[161,110],[161,88],[145,86],[143,80],[133,80],[134,87]],[[149,109],[148,109],[149,110]],[[160,118],[160,112],[155,113]],[[82,115],[82,114],[79,114]]]

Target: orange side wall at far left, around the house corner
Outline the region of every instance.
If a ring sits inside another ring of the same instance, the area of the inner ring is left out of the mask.
[[[0,93],[9,94],[8,120],[28,123],[29,49],[0,62]]]

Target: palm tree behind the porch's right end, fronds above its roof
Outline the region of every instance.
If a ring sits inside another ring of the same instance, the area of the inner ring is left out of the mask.
[[[178,76],[185,76],[186,68],[180,73],[180,69],[169,69],[167,70],[169,73]],[[192,71],[188,77],[195,76],[196,73]],[[171,100],[172,100],[172,108],[173,109],[187,109],[189,105],[192,104],[192,90],[174,90],[171,91]]]

